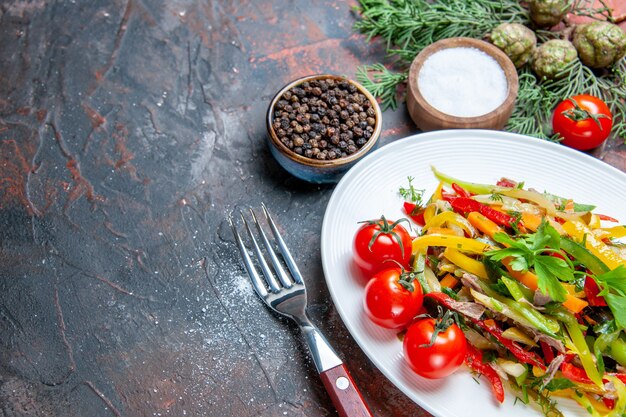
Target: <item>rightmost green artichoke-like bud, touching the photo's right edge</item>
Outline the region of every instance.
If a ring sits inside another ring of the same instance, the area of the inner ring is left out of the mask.
[[[626,34],[610,22],[596,21],[577,26],[572,42],[583,64],[592,68],[609,67],[626,54]]]

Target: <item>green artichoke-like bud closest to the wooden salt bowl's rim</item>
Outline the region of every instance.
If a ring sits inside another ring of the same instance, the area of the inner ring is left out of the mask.
[[[520,23],[502,23],[491,32],[491,43],[511,58],[515,68],[521,68],[530,60],[537,37]]]

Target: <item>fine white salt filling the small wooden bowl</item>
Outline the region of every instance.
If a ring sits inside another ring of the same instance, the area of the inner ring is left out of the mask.
[[[417,79],[424,99],[442,113],[475,117],[506,99],[508,86],[500,64],[477,48],[447,48],[429,56]]]

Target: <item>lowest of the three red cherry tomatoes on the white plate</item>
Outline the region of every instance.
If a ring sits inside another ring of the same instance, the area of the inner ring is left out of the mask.
[[[415,322],[403,341],[404,358],[411,369],[430,379],[443,378],[456,371],[467,351],[465,335],[455,323],[441,331],[430,345],[436,323],[432,318]]]

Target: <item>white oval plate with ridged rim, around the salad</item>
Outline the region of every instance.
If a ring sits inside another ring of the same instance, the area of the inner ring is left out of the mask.
[[[504,404],[494,401],[489,383],[477,384],[462,367],[442,380],[427,380],[408,369],[395,331],[364,317],[363,286],[351,267],[357,222],[404,217],[400,186],[413,184],[428,198],[437,186],[431,165],[456,178],[490,183],[501,177],[548,191],[597,212],[626,219],[626,174],[585,153],[562,145],[498,131],[448,130],[392,142],[356,164],[335,188],[322,225],[321,255],[326,282],[346,327],[380,371],[421,407],[441,417],[542,416],[536,406],[515,403],[507,390]],[[353,364],[354,366],[354,364]],[[566,416],[586,416],[571,400],[560,400]]]

